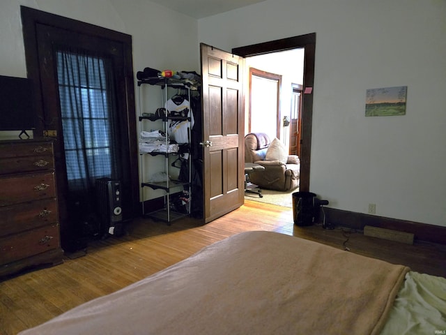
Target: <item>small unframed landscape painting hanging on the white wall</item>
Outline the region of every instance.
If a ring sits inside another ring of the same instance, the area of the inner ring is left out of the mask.
[[[367,89],[365,116],[387,117],[406,114],[407,86]]]

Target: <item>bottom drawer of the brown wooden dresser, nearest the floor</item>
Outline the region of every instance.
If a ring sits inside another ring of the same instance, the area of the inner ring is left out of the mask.
[[[59,225],[48,225],[0,238],[0,264],[59,248]]]

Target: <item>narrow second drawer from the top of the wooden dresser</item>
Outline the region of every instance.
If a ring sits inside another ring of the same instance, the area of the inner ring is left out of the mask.
[[[53,169],[54,159],[52,156],[36,155],[0,158],[0,174],[33,172]]]

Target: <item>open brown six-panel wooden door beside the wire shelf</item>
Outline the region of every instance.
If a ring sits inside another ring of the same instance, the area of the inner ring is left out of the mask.
[[[243,204],[243,57],[201,43],[204,221]]]

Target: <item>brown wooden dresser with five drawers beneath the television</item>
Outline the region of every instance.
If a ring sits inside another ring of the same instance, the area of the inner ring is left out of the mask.
[[[52,141],[0,141],[0,185],[0,278],[63,262]]]

